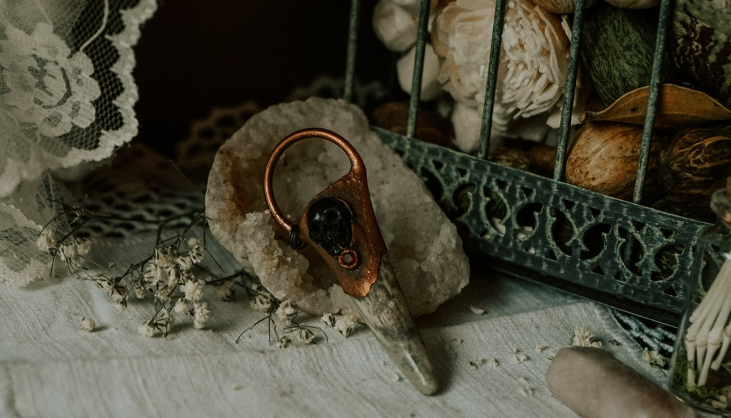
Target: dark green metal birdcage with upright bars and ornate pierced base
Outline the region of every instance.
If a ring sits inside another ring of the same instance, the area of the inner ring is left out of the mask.
[[[683,311],[692,251],[702,221],[640,205],[648,169],[660,69],[671,1],[659,5],[659,30],[649,83],[633,202],[564,183],[567,142],[586,0],[577,0],[553,178],[485,159],[501,50],[505,0],[496,0],[484,113],[477,156],[414,139],[420,102],[430,1],[422,0],[406,135],[374,127],[379,137],[421,175],[458,225],[473,262],[555,286],[632,314],[677,325]],[[344,98],[352,98],[360,20],[352,0]],[[526,229],[527,227],[527,229]],[[530,231],[526,233],[526,230]]]

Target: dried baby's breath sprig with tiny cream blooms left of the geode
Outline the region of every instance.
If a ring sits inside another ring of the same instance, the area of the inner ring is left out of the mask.
[[[211,318],[211,309],[205,301],[205,286],[216,286],[216,297],[234,300],[233,286],[244,286],[248,275],[243,271],[221,277],[212,270],[220,267],[205,247],[206,218],[204,210],[197,209],[157,220],[124,218],[95,213],[83,207],[64,206],[64,211],[53,218],[39,233],[37,246],[60,260],[68,273],[83,280],[94,281],[96,286],[109,297],[110,302],[124,311],[130,302],[130,295],[138,300],[154,300],[154,314],[140,324],[138,332],[153,337],[170,333],[174,314],[191,316],[194,328],[201,329]],[[151,223],[157,226],[154,246],[147,257],[129,265],[124,273],[113,275],[106,269],[114,269],[117,262],[104,262],[104,266],[87,258],[93,249],[93,241],[79,235],[80,228],[88,221],[110,220],[129,223]],[[183,227],[170,228],[175,221],[187,219]],[[193,228],[202,229],[202,241],[192,236]],[[164,238],[165,234],[170,234]],[[206,260],[215,265],[206,267]],[[53,273],[53,262],[51,272]],[[92,273],[91,268],[96,270]]]

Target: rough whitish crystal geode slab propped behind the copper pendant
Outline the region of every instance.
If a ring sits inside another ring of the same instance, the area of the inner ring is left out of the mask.
[[[363,158],[376,218],[412,315],[431,313],[457,295],[469,281],[469,262],[455,226],[422,180],[371,132],[366,115],[342,100],[311,98],[269,107],[221,146],[205,194],[216,239],[275,297],[311,314],[355,314],[325,262],[311,248],[289,247],[264,200],[270,152],[292,132],[314,127],[340,134]],[[276,165],[276,202],[296,224],[310,200],[349,170],[349,159],[333,143],[297,142]]]

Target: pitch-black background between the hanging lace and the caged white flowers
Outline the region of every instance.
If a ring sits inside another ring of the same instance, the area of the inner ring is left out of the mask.
[[[374,1],[362,1],[357,79],[384,79],[393,56],[371,29]],[[346,0],[167,0],[135,47],[140,140],[164,153],[189,122],[218,104],[281,102],[318,75],[344,75]]]

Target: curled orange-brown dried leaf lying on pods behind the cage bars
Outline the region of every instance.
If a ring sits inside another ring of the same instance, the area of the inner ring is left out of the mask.
[[[579,121],[642,125],[645,123],[648,91],[646,86],[630,91],[601,112],[583,113]],[[731,110],[711,96],[674,84],[660,85],[654,123],[657,129],[681,129],[721,121],[731,121]]]

